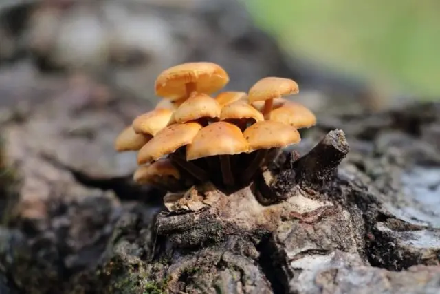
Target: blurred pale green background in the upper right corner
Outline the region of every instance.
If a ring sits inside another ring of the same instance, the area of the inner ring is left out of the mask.
[[[388,90],[440,98],[439,0],[245,2],[285,50]]]

